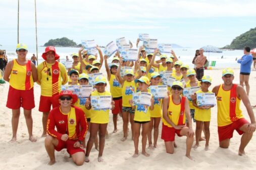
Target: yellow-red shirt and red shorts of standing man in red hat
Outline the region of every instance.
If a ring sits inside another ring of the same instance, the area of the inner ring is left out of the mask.
[[[49,64],[43,61],[37,66],[38,84],[41,85],[41,97],[39,103],[40,112],[49,112],[50,106],[58,107],[59,103],[54,102],[53,97],[59,95],[61,85],[68,81],[68,74],[65,66],[55,61]]]

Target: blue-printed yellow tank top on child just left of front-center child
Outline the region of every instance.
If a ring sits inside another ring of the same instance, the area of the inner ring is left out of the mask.
[[[129,100],[132,100],[133,93],[136,93],[136,86],[134,80],[130,82],[125,80],[122,87],[122,106],[131,107],[131,105],[129,104]]]

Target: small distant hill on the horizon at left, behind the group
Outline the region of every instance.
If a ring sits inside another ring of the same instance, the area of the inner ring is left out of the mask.
[[[73,40],[63,37],[57,39],[50,39],[43,46],[77,47],[77,44]]]

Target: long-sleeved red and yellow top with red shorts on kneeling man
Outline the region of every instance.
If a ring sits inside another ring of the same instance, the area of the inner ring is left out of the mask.
[[[76,152],[84,152],[84,149],[74,147],[74,143],[78,140],[84,141],[87,129],[84,112],[77,107],[71,107],[68,114],[62,113],[61,107],[54,108],[49,113],[46,131],[50,136],[58,139],[59,143],[55,146],[57,151],[67,148],[68,153],[71,155]],[[61,140],[63,134],[69,135],[67,141]]]

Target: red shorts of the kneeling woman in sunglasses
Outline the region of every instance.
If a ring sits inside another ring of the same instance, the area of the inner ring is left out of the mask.
[[[182,135],[180,135],[180,131],[181,131],[181,129],[175,129],[174,127],[168,127],[168,126],[164,125],[164,123],[162,123],[161,139],[164,139],[165,142],[174,141],[175,133],[180,137],[182,136]]]

